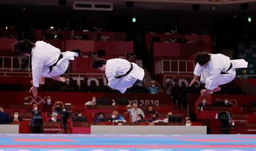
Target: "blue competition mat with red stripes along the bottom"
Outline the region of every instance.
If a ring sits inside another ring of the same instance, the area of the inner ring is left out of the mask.
[[[0,150],[256,150],[256,135],[0,134]]]

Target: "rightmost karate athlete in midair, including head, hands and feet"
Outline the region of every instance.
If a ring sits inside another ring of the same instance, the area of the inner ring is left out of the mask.
[[[234,80],[236,76],[235,68],[247,68],[248,62],[244,59],[230,60],[223,54],[208,54],[208,52],[198,52],[195,55],[194,79],[189,86],[194,84],[198,76],[200,82],[205,84],[206,89],[201,90],[201,95],[210,95],[220,91],[220,85]]]

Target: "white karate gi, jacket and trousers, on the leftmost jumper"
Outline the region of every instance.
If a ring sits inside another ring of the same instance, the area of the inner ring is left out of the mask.
[[[58,61],[57,65],[49,73],[49,66],[57,62],[60,54],[63,55],[62,59]],[[35,87],[39,86],[40,76],[51,78],[52,76],[62,75],[69,67],[69,60],[74,60],[74,56],[78,57],[75,52],[61,52],[58,48],[44,41],[36,41],[31,55],[33,86]]]

